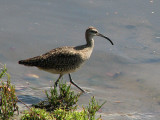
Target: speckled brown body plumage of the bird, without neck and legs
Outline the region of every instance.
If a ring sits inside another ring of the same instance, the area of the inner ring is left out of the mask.
[[[80,47],[80,46],[79,46]],[[75,71],[89,58],[85,55],[85,49],[79,47],[61,47],[53,49],[43,55],[19,61],[19,64],[36,66],[43,70],[56,70],[57,74]],[[82,47],[82,46],[81,46]]]

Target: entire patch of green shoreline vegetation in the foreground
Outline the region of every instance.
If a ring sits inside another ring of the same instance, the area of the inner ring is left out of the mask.
[[[4,65],[0,71],[0,119],[8,120],[18,111],[18,97],[15,87],[10,83],[10,75]],[[59,87],[51,87],[45,91],[46,100],[27,106],[28,110],[22,112],[21,120],[101,120],[101,116],[96,117],[96,112],[105,104],[101,105],[94,97],[89,101],[89,105],[77,110],[77,102],[80,94],[71,91],[70,85],[62,81]],[[19,101],[21,102],[21,101]],[[22,102],[23,103],[23,102]],[[24,103],[23,103],[24,104]],[[26,105],[25,105],[26,106]]]

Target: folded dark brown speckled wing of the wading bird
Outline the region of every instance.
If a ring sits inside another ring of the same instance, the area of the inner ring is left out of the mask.
[[[75,66],[82,62],[82,58],[80,54],[73,52],[72,49],[72,47],[56,48],[43,55],[21,60],[19,63],[48,69]]]

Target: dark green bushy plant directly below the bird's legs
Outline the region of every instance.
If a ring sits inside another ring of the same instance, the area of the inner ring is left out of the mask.
[[[37,105],[33,105],[36,108],[44,108],[47,111],[54,111],[57,108],[62,109],[76,109],[76,103],[80,94],[75,95],[74,91],[70,90],[70,85],[60,81],[59,91],[56,86],[51,87],[49,92],[45,91],[47,100],[41,101]],[[75,106],[74,106],[75,105]]]

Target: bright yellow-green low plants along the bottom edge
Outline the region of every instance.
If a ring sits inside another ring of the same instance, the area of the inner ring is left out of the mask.
[[[99,105],[92,97],[89,106],[83,107],[81,111],[56,108],[52,113],[49,113],[44,109],[32,108],[30,111],[25,112],[21,120],[102,120],[101,116],[96,119],[96,112],[104,104],[105,102]]]

